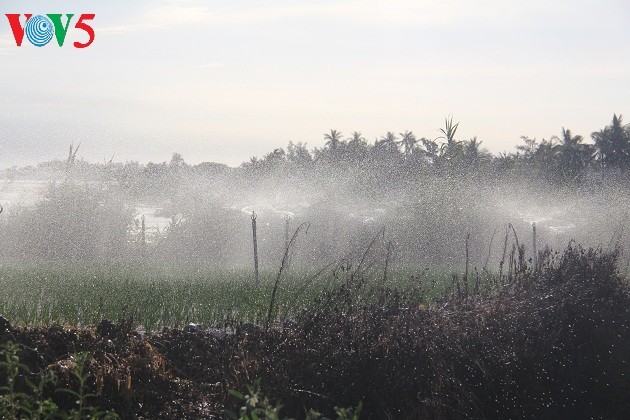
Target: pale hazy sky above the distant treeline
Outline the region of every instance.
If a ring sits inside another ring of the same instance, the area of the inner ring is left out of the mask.
[[[0,168],[79,156],[237,165],[331,128],[493,152],[630,122],[627,0],[0,3]],[[18,48],[5,13],[95,13],[96,40]]]

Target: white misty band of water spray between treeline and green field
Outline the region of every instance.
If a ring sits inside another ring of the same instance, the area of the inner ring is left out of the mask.
[[[155,248],[149,249],[155,250],[156,258],[191,258],[211,264],[249,267],[252,260],[250,216],[251,212],[256,212],[261,261],[270,269],[277,268],[282,258],[287,218],[291,234],[299,224],[310,224],[308,233],[299,238],[293,253],[296,264],[314,268],[342,258],[359,258],[383,228],[385,235],[377,241],[378,246],[384,247],[390,242],[392,263],[410,267],[461,268],[465,264],[466,237],[470,234],[471,266],[481,270],[488,263],[489,268],[497,269],[508,224],[514,227],[516,240],[525,245],[528,258],[532,249],[532,223],[537,226],[539,250],[545,246],[561,250],[570,241],[607,249],[621,246],[627,250],[630,245],[630,236],[625,231],[630,222],[630,191],[623,183],[602,183],[595,179],[578,189],[560,189],[527,182],[434,179],[374,194],[369,188],[357,187],[351,179],[344,180],[341,173],[329,175],[301,180],[267,177],[258,182],[235,175],[216,177],[211,182],[191,176],[181,179],[168,197],[133,201],[123,196],[109,196],[108,200],[114,204],[124,201],[129,209],[127,213],[103,213],[99,216],[102,220],[87,221],[80,219],[85,216],[79,213],[75,222],[92,225],[93,233],[87,233],[92,236],[66,238],[62,242],[100,243],[106,239],[97,235],[114,225],[127,229],[129,238],[138,234],[137,225],[133,228],[134,220],[137,224],[145,216],[150,234],[161,232],[162,238],[169,239],[162,239],[162,248],[156,245],[159,235],[150,240],[155,242],[150,243]],[[59,188],[61,184],[57,185]],[[82,196],[86,191],[102,188],[98,182],[80,185],[78,192],[72,194]],[[4,223],[5,229],[10,228],[14,220],[20,220],[25,209],[35,208],[50,199],[48,181],[3,180],[0,186],[0,203],[5,207],[0,223]],[[10,256],[11,252],[7,251],[20,241],[20,235],[37,235],[38,229],[55,229],[56,224],[60,229],[58,218],[70,218],[67,223],[72,225],[74,214],[83,210],[77,209],[71,199],[74,196],[68,197],[67,202],[61,201],[56,213],[39,213],[35,220],[20,222],[26,223],[22,231],[13,230],[0,238],[4,248],[0,253]],[[172,224],[178,224],[179,229],[169,230]],[[63,236],[64,232],[55,234]],[[76,235],[86,234],[77,232]],[[511,231],[509,236],[508,253],[515,243]],[[61,247],[59,243],[49,246]],[[77,255],[87,259],[129,257],[129,254],[113,252],[115,249],[107,251],[110,245],[106,242],[99,246],[100,254]],[[41,257],[65,258],[63,249],[59,251],[54,254],[57,257]],[[11,258],[16,257],[19,259],[20,255]]]

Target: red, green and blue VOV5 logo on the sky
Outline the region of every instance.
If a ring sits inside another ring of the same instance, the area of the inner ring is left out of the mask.
[[[15,38],[15,44],[18,47],[22,46],[24,35],[26,35],[29,42],[36,47],[43,47],[48,44],[54,35],[57,39],[57,44],[59,44],[60,47],[63,47],[74,14],[66,14],[66,21],[64,23],[62,17],[63,15],[61,14],[48,13],[45,16],[33,16],[31,13],[26,13],[24,14],[26,17],[24,25],[20,22],[19,14],[9,13],[5,16],[9,20],[9,25],[13,31],[13,37]],[[94,29],[86,22],[94,19],[95,17],[95,14],[82,14],[77,23],[74,25],[75,30],[85,31],[88,35],[87,42],[75,42],[75,48],[86,48],[94,42]]]

